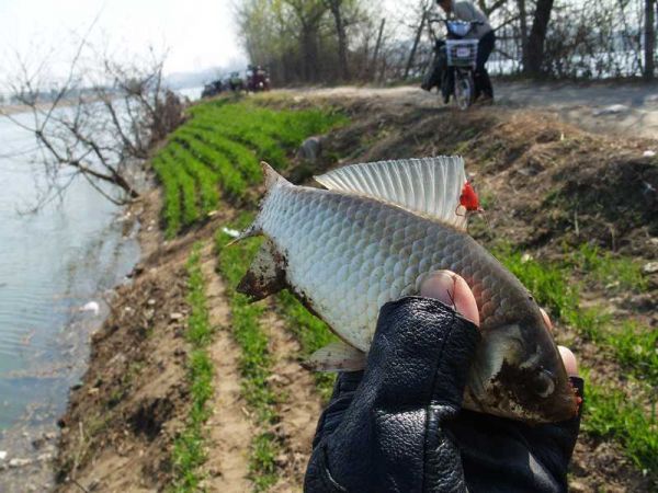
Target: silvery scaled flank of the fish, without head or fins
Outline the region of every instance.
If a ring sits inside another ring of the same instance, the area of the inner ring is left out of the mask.
[[[362,351],[370,346],[379,307],[417,294],[432,271],[450,270],[467,280],[483,309],[483,329],[501,305],[497,297],[507,286],[489,275],[501,270],[498,261],[469,254],[474,246],[478,255],[486,251],[451,227],[373,198],[317,188],[280,185],[266,204],[259,226],[287,259],[288,282]]]

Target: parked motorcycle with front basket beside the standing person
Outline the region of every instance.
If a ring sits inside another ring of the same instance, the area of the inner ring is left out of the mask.
[[[446,39],[441,39],[432,24],[443,23],[447,31]],[[430,90],[439,85],[443,102],[447,104],[454,96],[461,110],[468,108],[475,101],[475,67],[478,39],[467,38],[468,33],[479,22],[449,21],[430,19],[430,34],[434,41],[434,66],[430,69],[423,88]]]

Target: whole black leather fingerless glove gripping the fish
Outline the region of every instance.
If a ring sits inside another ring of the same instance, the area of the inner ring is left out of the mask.
[[[478,341],[438,300],[385,305],[366,370],[339,377],[320,417],[305,491],[566,491],[579,419],[531,427],[461,411]]]

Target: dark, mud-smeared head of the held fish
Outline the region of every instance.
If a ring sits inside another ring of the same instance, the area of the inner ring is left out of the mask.
[[[466,406],[531,423],[574,417],[577,398],[537,308],[486,328],[470,369]]]

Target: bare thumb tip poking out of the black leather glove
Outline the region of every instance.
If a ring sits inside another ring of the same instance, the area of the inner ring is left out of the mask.
[[[454,272],[436,271],[430,274],[420,286],[420,296],[435,298],[453,307],[464,318],[479,326],[479,310],[473,291]]]

